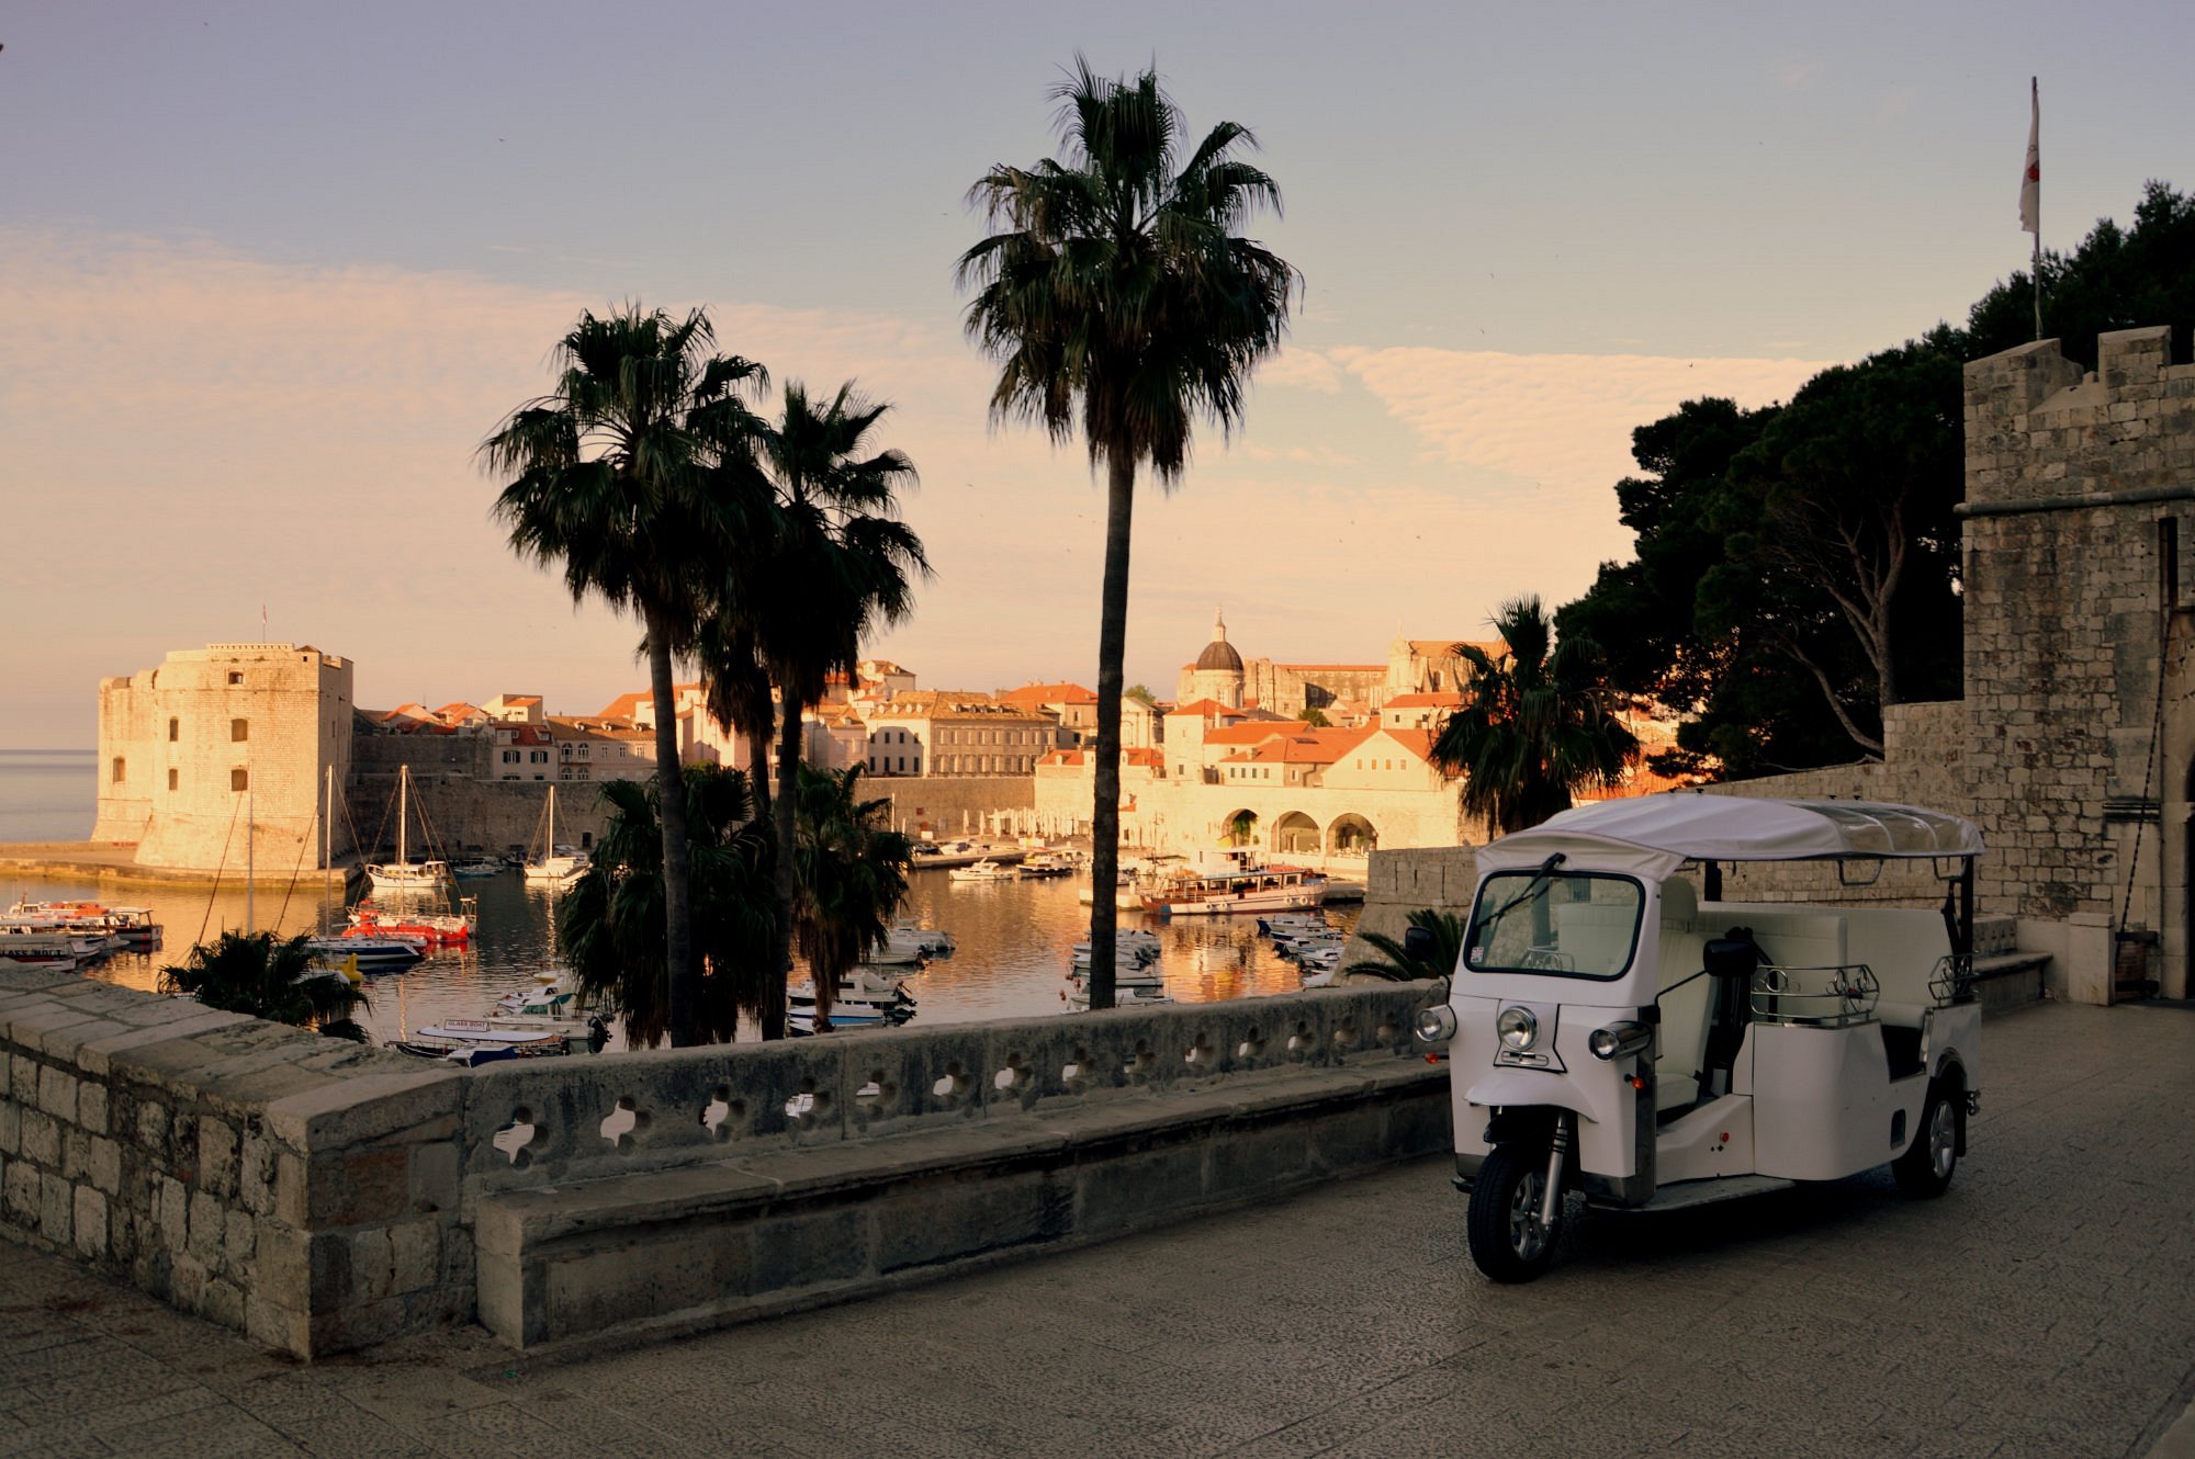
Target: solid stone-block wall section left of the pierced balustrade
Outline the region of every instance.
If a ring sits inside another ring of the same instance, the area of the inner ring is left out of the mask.
[[[33,972],[0,1064],[18,1235],[296,1356],[470,1314],[454,1071]]]

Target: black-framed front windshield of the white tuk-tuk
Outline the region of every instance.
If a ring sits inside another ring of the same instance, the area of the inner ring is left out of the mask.
[[[1644,906],[1646,891],[1626,875],[1495,871],[1471,908],[1464,968],[1618,979],[1637,948]]]

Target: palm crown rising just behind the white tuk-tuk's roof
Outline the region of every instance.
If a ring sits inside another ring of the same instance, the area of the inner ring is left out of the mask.
[[[1536,595],[1501,603],[1493,627],[1508,645],[1501,658],[1455,645],[1471,671],[1431,759],[1464,777],[1464,814],[1506,836],[1569,810],[1576,790],[1613,788],[1640,742],[1611,709],[1600,647],[1578,636],[1552,643]]]

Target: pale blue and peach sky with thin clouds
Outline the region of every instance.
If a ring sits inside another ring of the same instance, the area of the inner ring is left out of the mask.
[[[97,680],[272,638],[364,706],[645,682],[474,459],[582,309],[705,305],[854,380],[935,581],[869,652],[1095,685],[1104,491],[988,421],[968,186],[1056,151],[1076,53],[1249,125],[1306,281],[1231,437],[1139,491],[1126,671],[1225,610],[1282,663],[1477,636],[1629,555],[1631,430],[1962,320],[2195,186],[2186,4],[42,4],[0,11],[0,748]],[[2164,320],[2155,320],[2164,323]],[[2184,323],[2184,320],[2175,320]]]

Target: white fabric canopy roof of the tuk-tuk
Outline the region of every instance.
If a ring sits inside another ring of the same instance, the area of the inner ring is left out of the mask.
[[[1760,801],[1677,792],[1600,801],[1479,849],[1479,871],[1539,867],[1631,871],[1662,882],[1684,862],[1971,858],[1965,816],[1879,801]]]

